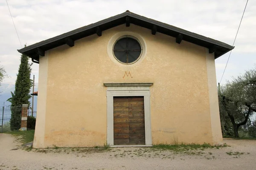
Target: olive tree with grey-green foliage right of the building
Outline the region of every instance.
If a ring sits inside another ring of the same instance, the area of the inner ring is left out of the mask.
[[[245,134],[250,127],[247,120],[256,111],[256,68],[218,88],[218,96],[223,135],[239,137],[239,129]]]

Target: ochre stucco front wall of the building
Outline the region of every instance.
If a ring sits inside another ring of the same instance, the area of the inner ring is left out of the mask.
[[[133,65],[113,62],[108,43],[130,31],[145,42]],[[144,50],[144,49],[143,49]],[[124,76],[125,71],[131,76]],[[40,57],[38,117],[33,147],[93,147],[107,142],[107,87],[103,83],[153,82],[152,144],[222,142],[214,54],[190,42],[131,24],[75,41]]]

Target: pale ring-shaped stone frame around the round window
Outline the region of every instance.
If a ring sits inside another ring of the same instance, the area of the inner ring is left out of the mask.
[[[113,48],[114,45],[116,44],[116,42],[124,37],[129,37],[129,38],[133,38],[134,40],[137,40],[141,46],[141,53],[140,53],[140,57],[138,57],[134,62],[131,63],[124,63],[119,61],[115,55],[113,54]],[[130,31],[122,31],[122,32],[118,32],[116,34],[114,34],[110,40],[108,41],[108,46],[107,46],[107,51],[108,51],[108,57],[116,64],[119,66],[135,66],[140,64],[140,62],[143,61],[143,59],[145,58],[146,55],[146,51],[147,51],[147,47],[146,47],[146,43],[145,40],[143,39],[143,37],[140,34],[134,33],[134,32],[130,32]]]

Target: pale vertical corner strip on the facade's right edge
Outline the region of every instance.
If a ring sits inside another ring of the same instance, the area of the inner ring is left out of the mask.
[[[212,144],[222,143],[221,121],[218,105],[218,91],[215,72],[215,58],[214,53],[209,54],[209,49],[205,48],[206,66],[207,66],[207,80],[209,91],[209,107],[212,131]]]

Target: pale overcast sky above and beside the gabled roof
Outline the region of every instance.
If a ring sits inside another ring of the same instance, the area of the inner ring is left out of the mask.
[[[233,44],[246,0],[8,0],[22,45],[32,45],[129,10],[154,20]],[[249,0],[221,84],[256,63],[256,0]],[[0,64],[14,83],[20,42],[5,0],[0,1]],[[229,53],[215,60],[217,82]],[[38,64],[32,75],[38,82]]]

